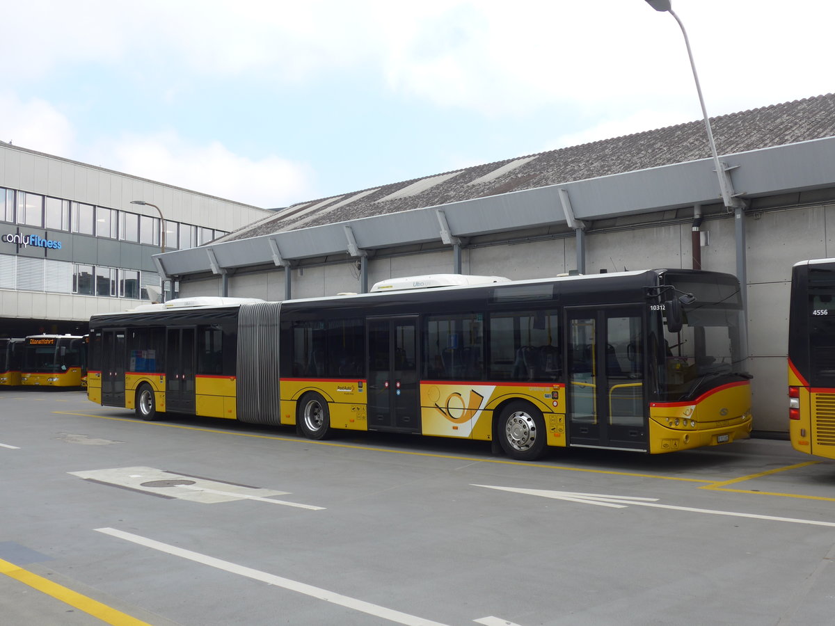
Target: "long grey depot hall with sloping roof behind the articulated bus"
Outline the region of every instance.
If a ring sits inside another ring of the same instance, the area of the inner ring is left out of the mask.
[[[306,200],[159,265],[183,295],[266,300],[409,275],[727,272],[746,302],[754,428],[782,435],[792,265],[835,256],[835,96],[711,124],[718,172],[695,120]]]

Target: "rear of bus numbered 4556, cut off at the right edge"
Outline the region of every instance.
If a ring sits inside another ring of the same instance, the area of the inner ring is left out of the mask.
[[[835,259],[794,265],[789,301],[792,447],[835,458]]]

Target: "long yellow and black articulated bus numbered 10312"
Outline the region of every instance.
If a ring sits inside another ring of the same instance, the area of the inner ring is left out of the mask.
[[[735,277],[694,270],[183,299],[90,319],[88,395],[144,419],[461,437],[523,460],[547,447],[675,452],[751,432],[741,314]]]

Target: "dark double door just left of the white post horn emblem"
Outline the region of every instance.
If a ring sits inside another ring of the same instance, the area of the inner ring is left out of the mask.
[[[420,432],[417,317],[368,320],[368,429]]]

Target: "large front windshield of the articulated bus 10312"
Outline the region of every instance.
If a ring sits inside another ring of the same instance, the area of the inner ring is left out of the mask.
[[[660,396],[666,401],[686,401],[711,388],[749,378],[742,371],[742,304],[739,287],[722,277],[689,280],[667,275],[676,291],[696,300],[682,304],[681,331],[670,332],[664,321],[665,369],[660,372]],[[681,294],[677,294],[681,295]]]

